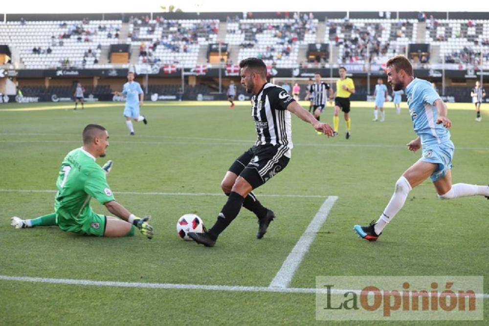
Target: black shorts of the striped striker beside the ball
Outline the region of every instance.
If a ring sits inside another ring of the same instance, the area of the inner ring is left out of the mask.
[[[238,157],[228,171],[241,176],[256,189],[285,169],[290,160],[285,156],[288,151],[283,145],[255,145]]]

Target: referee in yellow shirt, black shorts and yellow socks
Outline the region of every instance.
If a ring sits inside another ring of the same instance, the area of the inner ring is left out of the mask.
[[[346,68],[339,67],[339,79],[336,81],[336,92],[334,93],[334,116],[333,116],[333,127],[334,135],[338,134],[339,125],[339,109],[341,109],[345,114],[346,121],[346,139],[350,139],[350,95],[355,93],[355,84],[353,84],[353,79],[346,77]]]

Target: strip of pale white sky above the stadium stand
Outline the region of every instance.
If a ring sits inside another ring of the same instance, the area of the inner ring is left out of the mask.
[[[350,0],[348,5],[342,1],[318,1],[307,5],[301,1],[204,1],[204,0],[79,0],[46,1],[24,0],[4,1],[0,14],[43,14],[43,13],[125,13],[125,12],[163,12],[161,6],[174,5],[184,12],[259,12],[259,11],[434,11],[434,12],[489,12],[488,1],[446,1],[446,0],[407,0],[407,1],[365,1]],[[278,4],[278,5],[277,5]]]

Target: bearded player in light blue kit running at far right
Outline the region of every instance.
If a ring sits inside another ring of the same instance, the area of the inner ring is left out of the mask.
[[[422,149],[421,158],[407,169],[396,182],[396,188],[377,222],[369,226],[355,225],[354,230],[363,239],[376,241],[385,225],[400,211],[412,188],[431,178],[440,199],[454,199],[481,195],[489,199],[489,186],[466,183],[452,185],[451,167],[454,146],[450,140],[451,121],[446,117],[445,103],[431,84],[414,78],[413,67],[404,56],[387,61],[387,81],[397,91],[407,95],[409,113],[418,138],[407,143],[410,151]]]

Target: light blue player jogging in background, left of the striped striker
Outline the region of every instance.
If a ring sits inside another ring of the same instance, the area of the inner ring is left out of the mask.
[[[144,93],[141,85],[134,81],[134,73],[129,71],[127,74],[128,82],[122,87],[122,92],[115,92],[119,96],[126,96],[126,108],[124,109],[124,117],[126,118],[126,126],[130,131],[130,135],[134,135],[133,122],[142,121],[145,125],[148,124],[148,120],[144,115],[139,114],[139,107],[143,105]]]

